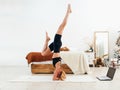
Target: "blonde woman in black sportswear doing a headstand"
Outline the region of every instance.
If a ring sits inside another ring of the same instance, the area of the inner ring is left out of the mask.
[[[67,12],[64,17],[64,20],[61,23],[61,25],[59,26],[59,28],[55,34],[54,41],[49,46],[48,46],[48,42],[49,42],[50,38],[48,36],[48,33],[46,32],[46,41],[45,41],[44,48],[43,48],[41,54],[43,56],[46,56],[46,55],[49,55],[53,51],[52,60],[53,60],[53,66],[55,67],[53,80],[60,80],[60,79],[63,80],[66,78],[65,73],[61,69],[61,66],[60,66],[60,64],[61,64],[60,48],[62,46],[62,42],[61,42],[62,33],[67,24],[67,19],[68,19],[68,16],[70,13],[71,13],[71,6],[70,6],[70,4],[68,4]]]

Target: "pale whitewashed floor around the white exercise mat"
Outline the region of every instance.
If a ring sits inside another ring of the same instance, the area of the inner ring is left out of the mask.
[[[107,67],[91,67],[89,75],[96,78],[105,75]],[[116,70],[112,81],[99,81],[95,83],[11,83],[9,80],[22,75],[31,75],[28,66],[0,66],[0,90],[119,90],[120,68]],[[69,74],[68,74],[69,75]],[[52,78],[52,77],[51,77]]]

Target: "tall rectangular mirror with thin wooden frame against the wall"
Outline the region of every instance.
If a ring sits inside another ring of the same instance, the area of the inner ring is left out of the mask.
[[[100,57],[108,58],[108,41],[109,41],[109,32],[108,31],[96,31],[94,32],[94,53],[95,58]]]

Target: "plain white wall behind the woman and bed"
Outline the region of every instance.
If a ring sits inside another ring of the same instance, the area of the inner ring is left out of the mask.
[[[68,3],[72,14],[63,46],[85,50],[94,31],[107,30],[112,57],[120,30],[119,0],[0,0],[0,65],[27,65],[25,56],[41,51],[45,31],[53,40]]]

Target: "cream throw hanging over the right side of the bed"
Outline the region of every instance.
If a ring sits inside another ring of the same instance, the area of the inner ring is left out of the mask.
[[[74,74],[88,73],[89,63],[86,55],[78,51],[61,52],[63,61],[71,68]]]

